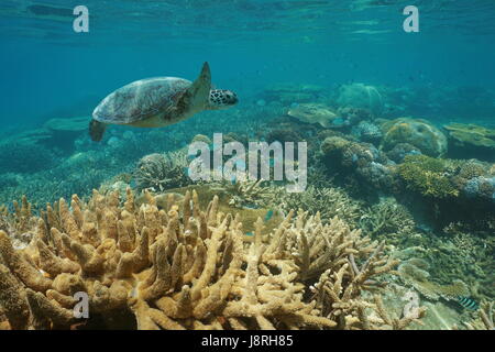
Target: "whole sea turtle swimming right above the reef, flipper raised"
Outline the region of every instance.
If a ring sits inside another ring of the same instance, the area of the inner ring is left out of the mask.
[[[194,82],[177,77],[155,77],[136,80],[111,92],[92,112],[89,134],[99,142],[108,124],[161,128],[202,110],[226,109],[237,102],[233,91],[211,89],[210,67],[205,63]]]

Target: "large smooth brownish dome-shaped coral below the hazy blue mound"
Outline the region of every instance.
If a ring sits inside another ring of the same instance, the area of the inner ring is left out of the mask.
[[[400,118],[385,122],[382,131],[384,151],[391,151],[399,143],[408,143],[429,156],[437,157],[447,153],[446,135],[426,120]]]

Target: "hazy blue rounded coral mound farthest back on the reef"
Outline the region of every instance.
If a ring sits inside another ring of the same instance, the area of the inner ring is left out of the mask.
[[[383,99],[378,90],[364,84],[343,85],[339,90],[337,103],[342,108],[365,109],[375,118],[380,117],[384,109]]]

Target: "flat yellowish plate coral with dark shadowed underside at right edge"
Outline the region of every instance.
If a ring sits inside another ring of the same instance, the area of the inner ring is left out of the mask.
[[[443,128],[448,131],[449,154],[452,157],[495,162],[495,129],[463,123]]]

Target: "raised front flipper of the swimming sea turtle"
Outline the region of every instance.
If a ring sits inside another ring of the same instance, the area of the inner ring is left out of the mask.
[[[193,82],[187,91],[180,98],[179,107],[190,112],[205,110],[208,107],[208,100],[211,89],[211,72],[208,63],[202,64],[199,77]]]

